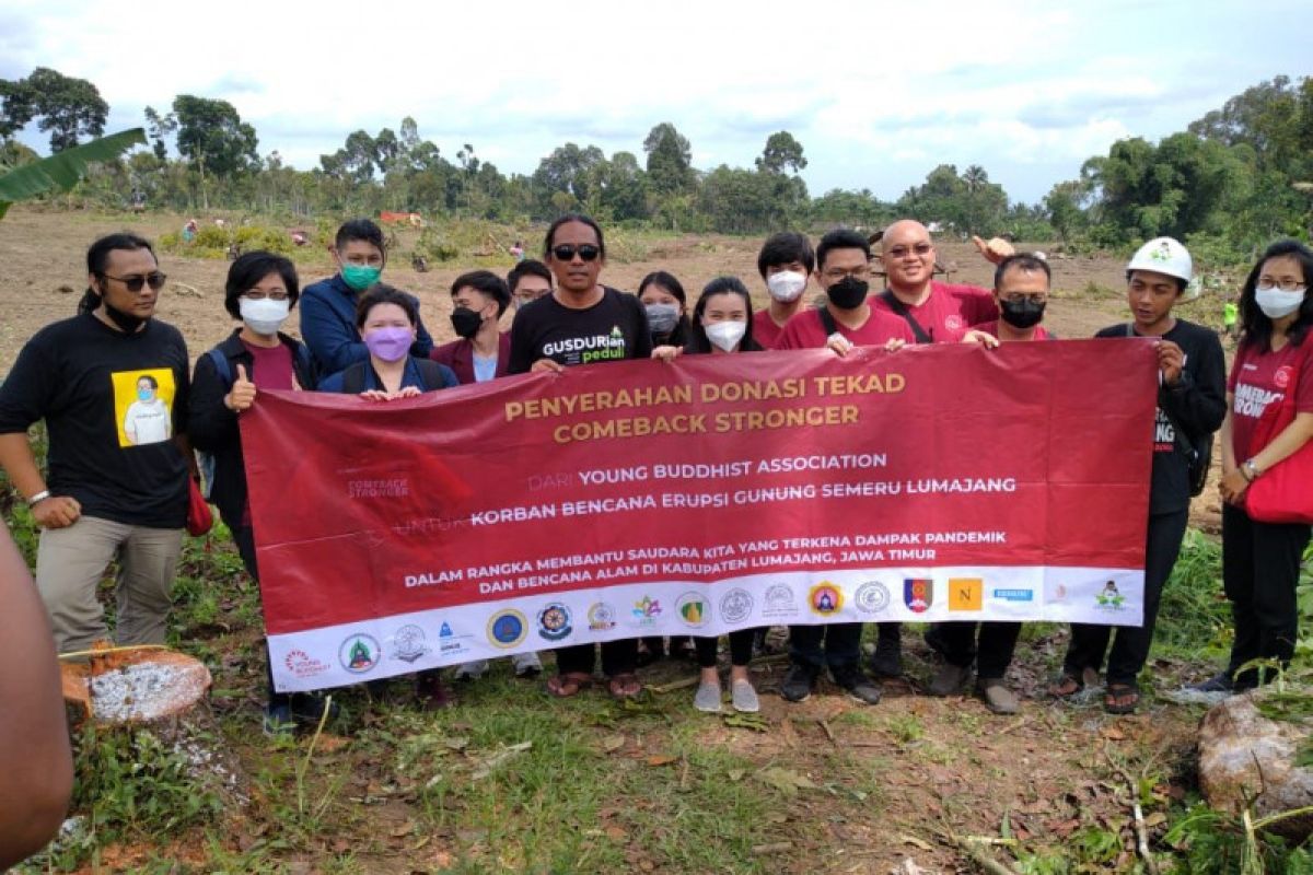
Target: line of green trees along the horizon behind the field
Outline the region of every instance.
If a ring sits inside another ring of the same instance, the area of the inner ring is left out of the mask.
[[[0,171],[37,157],[14,139],[29,123],[58,152],[101,135],[108,114],[83,79],[45,67],[0,79]],[[310,171],[277,151],[261,157],[255,129],[225,100],[179,94],[165,110],[147,106],[144,123],[151,148],[102,167],[83,184],[85,197],[110,207],[135,195],[177,211],[298,218],[391,210],[524,222],[579,210],[608,223],[723,234],[881,227],[911,216],[964,235],[1010,232],[1073,248],[1171,235],[1233,256],[1280,235],[1308,239],[1313,220],[1313,77],[1263,81],[1157,143],[1119,140],[1036,205],[1011,201],[976,164],[961,172],[941,164],[897,201],[869,189],[811,197],[800,176],[802,143],[789,131],[771,134],[751,168],[695,168],[688,138],[662,122],[643,139],[642,157],[571,142],[533,173],[506,174],[471,143],[448,157],[410,117],[397,130],[351,132]]]

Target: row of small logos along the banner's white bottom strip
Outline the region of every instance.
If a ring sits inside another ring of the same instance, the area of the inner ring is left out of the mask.
[[[764,590],[758,592],[733,586],[720,594],[718,613],[722,624],[733,627],[742,627],[754,615],[763,624],[815,622],[817,619],[835,618],[846,607],[851,607],[850,615],[856,614],[859,618],[876,621],[881,614],[886,614],[893,605],[894,593],[890,590],[888,584],[872,580],[856,585],[850,593],[844,586],[823,580],[806,588],[804,609],[798,605],[796,588],[785,582],[771,584]],[[587,594],[596,596],[597,592],[591,590]],[[986,609],[989,602],[1012,606],[1029,606],[1036,602],[1033,588],[991,586],[981,577],[951,577],[939,586],[930,577],[907,577],[902,581],[901,596],[902,606],[913,617],[927,614],[939,600],[945,611],[936,611],[935,619],[945,619],[943,613],[948,615],[972,613],[977,617],[962,617],[961,619],[979,619],[978,614]],[[1061,602],[1067,596],[1067,588],[1057,584],[1048,593],[1046,601]],[[760,610],[758,610],[759,601]],[[1108,580],[1100,589],[1082,601],[1088,601],[1085,607],[1094,617],[1100,613],[1116,614],[1127,610],[1127,598],[1113,580]],[[477,609],[477,605],[470,605],[458,610],[462,615],[467,615],[469,611]],[[810,613],[810,619],[805,617],[804,610]],[[660,632],[696,634],[710,624],[712,611],[713,600],[708,597],[705,590],[688,590],[680,594],[670,607],[662,603],[659,596],[654,597],[647,593],[632,603],[625,603],[622,609],[608,601],[593,601],[580,611],[565,600],[554,600],[530,613],[515,606],[499,607],[487,617],[478,635],[463,628],[460,621],[441,621],[436,627],[436,641],[432,644],[424,627],[410,622],[399,626],[386,638],[389,643],[386,652],[378,638],[369,632],[355,631],[341,640],[336,661],[348,674],[364,676],[374,672],[385,659],[410,665],[420,661],[425,665],[435,661],[450,665],[487,656],[484,643],[494,651],[544,649],[561,647],[576,631],[584,630],[587,634],[579,635],[579,639],[614,638],[613,631],[617,627],[632,628],[635,636]],[[456,624],[453,626],[453,623]],[[314,631],[306,635],[306,638],[310,636],[319,638]],[[302,636],[297,635],[297,638]],[[483,640],[475,641],[477,638]],[[337,673],[327,660],[315,659],[301,647],[289,649],[282,662],[288,673],[299,681]],[[406,669],[387,672],[387,674],[398,673],[406,673]]]

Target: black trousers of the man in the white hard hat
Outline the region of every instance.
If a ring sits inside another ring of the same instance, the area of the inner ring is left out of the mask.
[[[1190,508],[1173,513],[1159,513],[1149,517],[1149,533],[1145,540],[1145,617],[1142,626],[1092,626],[1071,624],[1071,644],[1064,660],[1064,669],[1073,677],[1091,668],[1103,668],[1104,653],[1108,656],[1108,683],[1136,682],[1149,660],[1149,645],[1153,643],[1153,630],[1158,622],[1158,603],[1162,601],[1162,588],[1171,577],[1171,569],[1180,554],[1180,540],[1186,537],[1186,523]],[[1295,590],[1291,590],[1293,598]],[[1116,630],[1116,631],[1113,631]],[[1112,639],[1112,651],[1108,640]]]

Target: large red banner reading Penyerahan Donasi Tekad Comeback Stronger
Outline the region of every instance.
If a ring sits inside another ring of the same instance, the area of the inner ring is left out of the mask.
[[[1155,374],[1112,340],[261,394],[276,682],[771,623],[1137,624]]]

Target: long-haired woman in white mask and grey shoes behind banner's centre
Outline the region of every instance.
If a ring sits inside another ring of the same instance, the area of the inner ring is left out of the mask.
[[[762,346],[752,338],[752,298],[738,277],[720,277],[706,283],[693,307],[688,344],[683,352],[689,356],[725,356],[729,353],[759,352]],[[653,358],[674,361],[679,350],[659,346]],[[730,639],[730,703],[735,711],[760,710],[756,690],[747,673],[752,659],[752,640],[756,630],[739,628]],[[659,640],[659,639],[658,639]],[[674,639],[672,639],[674,640]],[[714,714],[721,710],[721,676],[716,668],[720,639],[695,638],[697,664],[701,677],[693,694],[693,707]]]

